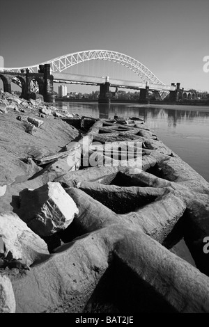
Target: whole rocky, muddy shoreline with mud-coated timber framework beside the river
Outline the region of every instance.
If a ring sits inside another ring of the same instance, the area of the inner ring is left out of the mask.
[[[209,312],[209,184],[144,121],[1,93],[0,125],[0,312]],[[86,168],[87,139],[141,143],[142,170]]]

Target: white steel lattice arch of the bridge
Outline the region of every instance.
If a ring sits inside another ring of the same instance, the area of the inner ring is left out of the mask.
[[[164,85],[164,83],[160,81],[160,79],[158,79],[155,76],[155,74],[153,74],[153,72],[151,72],[145,65],[143,65],[142,63],[140,63],[139,61],[137,61],[136,59],[130,56],[121,54],[116,51],[109,51],[109,50],[79,51],[72,54],[66,54],[58,58],[54,58],[45,63],[50,63],[53,73],[53,72],[63,72],[63,70],[66,70],[72,67],[73,65],[77,65],[79,63],[84,63],[84,61],[91,61],[91,60],[113,61],[114,63],[118,63],[132,70],[132,72],[137,74],[144,82]],[[39,65],[44,65],[45,63],[33,65],[31,67],[9,68],[7,70],[13,72],[20,72],[20,70],[24,70],[28,68],[30,72],[38,72]],[[36,88],[36,84],[33,87]],[[160,95],[162,98],[164,98],[167,95],[167,92],[161,92]]]

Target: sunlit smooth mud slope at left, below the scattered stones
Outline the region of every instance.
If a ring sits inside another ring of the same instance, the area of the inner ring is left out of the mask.
[[[26,109],[26,114],[26,118],[28,115],[38,118],[38,110],[34,106]],[[22,161],[30,156],[27,150],[29,147],[43,148],[45,149],[44,155],[49,155],[59,152],[79,134],[75,128],[49,116],[49,118],[42,119],[44,124],[37,129],[36,137],[31,137],[30,134],[25,133],[25,122],[18,121],[17,116],[18,113],[15,113],[13,109],[8,109],[6,115],[0,115],[0,185],[12,184],[19,176],[29,178],[34,175],[33,170],[29,171],[31,167]]]

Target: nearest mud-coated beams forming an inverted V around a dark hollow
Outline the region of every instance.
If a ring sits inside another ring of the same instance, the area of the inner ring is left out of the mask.
[[[12,282],[17,312],[88,312],[105,301],[120,313],[209,311],[207,276],[121,224],[61,246]]]

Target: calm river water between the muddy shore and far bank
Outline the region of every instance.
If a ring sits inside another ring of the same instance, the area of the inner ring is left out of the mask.
[[[93,118],[143,118],[164,144],[209,182],[209,106],[84,102],[56,102],[56,106]]]

